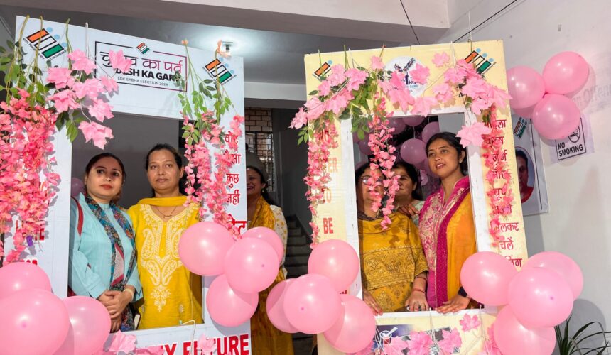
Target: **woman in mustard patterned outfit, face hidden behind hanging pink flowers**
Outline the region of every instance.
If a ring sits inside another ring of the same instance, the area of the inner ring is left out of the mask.
[[[418,228],[409,217],[394,213],[390,215],[389,229],[382,229],[381,210],[372,209],[374,197],[369,185],[373,181],[368,165],[356,170],[355,180],[364,302],[376,315],[428,310],[428,267]],[[382,193],[382,186],[378,192]]]

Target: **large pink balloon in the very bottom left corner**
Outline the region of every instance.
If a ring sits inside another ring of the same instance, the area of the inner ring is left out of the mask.
[[[0,320],[0,354],[53,354],[70,329],[62,300],[36,288],[1,298]]]

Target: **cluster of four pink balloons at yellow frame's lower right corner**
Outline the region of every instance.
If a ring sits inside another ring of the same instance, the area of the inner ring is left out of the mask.
[[[553,327],[571,315],[583,288],[577,263],[555,251],[532,256],[520,272],[507,258],[481,251],[467,258],[460,281],[477,302],[504,306],[494,321],[494,339],[507,355],[551,354]]]

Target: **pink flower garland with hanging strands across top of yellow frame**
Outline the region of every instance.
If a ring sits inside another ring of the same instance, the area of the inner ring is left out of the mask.
[[[428,67],[416,64],[409,71],[413,82],[426,85],[424,92],[432,89],[433,95],[412,97],[406,87],[405,73],[385,71],[382,55],[372,56],[369,68],[350,67],[345,52],[345,65],[334,65],[330,74],[322,77],[316,90],[308,95],[310,99],[301,107],[291,122],[291,128],[298,129],[298,143],[308,144],[308,173],[304,178],[308,185],[306,197],[310,202],[313,230],[313,245],[318,244],[320,231],[316,223],[318,205],[324,202],[323,195],[328,189],[328,157],[332,148],[337,148],[336,124],[340,120],[352,119],[352,132],[363,139],[369,133],[368,146],[373,152],[369,168],[373,171],[372,180],[376,181],[369,188],[374,192],[376,202],[374,209],[382,209],[382,226],[390,224],[389,214],[394,210],[397,177],[391,170],[396,157],[394,146],[390,144],[391,133],[388,119],[395,110],[411,115],[428,116],[432,109],[448,107],[455,101],[463,102],[481,121],[489,124],[494,120],[495,107],[505,107],[509,94],[489,84],[477,73],[472,64],[458,60],[450,64],[448,53],[436,53],[433,65],[442,72],[433,80],[429,79]],[[321,63],[322,64],[322,63]],[[387,102],[392,110],[387,110]],[[487,141],[498,135],[493,131]],[[505,178],[510,179],[506,173]],[[382,206],[382,195],[375,193],[377,187],[384,187],[388,197]],[[510,195],[509,195],[510,196]],[[511,204],[512,202],[508,202]],[[495,239],[502,236],[495,234]]]

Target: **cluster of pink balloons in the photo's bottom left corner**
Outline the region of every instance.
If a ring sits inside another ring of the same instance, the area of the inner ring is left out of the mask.
[[[42,268],[0,268],[0,354],[90,355],[102,350],[110,315],[92,297],[60,300]]]

